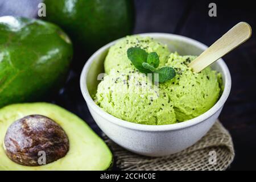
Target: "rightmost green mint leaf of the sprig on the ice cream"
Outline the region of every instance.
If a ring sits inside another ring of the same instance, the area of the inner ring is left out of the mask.
[[[172,67],[162,67],[156,70],[154,73],[158,73],[158,79],[160,83],[171,80],[176,75],[175,69]]]

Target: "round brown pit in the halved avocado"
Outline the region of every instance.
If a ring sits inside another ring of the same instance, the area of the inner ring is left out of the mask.
[[[46,164],[63,158],[69,150],[65,131],[43,115],[28,115],[15,121],[4,139],[6,155],[24,166],[40,166],[39,152],[46,154]]]

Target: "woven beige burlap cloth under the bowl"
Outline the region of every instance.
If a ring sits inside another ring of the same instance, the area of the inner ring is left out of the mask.
[[[225,170],[234,159],[229,132],[217,121],[199,142],[177,154],[158,158],[133,154],[104,136],[121,170]],[[212,151],[216,152],[215,154]],[[216,158],[210,159],[215,155]]]

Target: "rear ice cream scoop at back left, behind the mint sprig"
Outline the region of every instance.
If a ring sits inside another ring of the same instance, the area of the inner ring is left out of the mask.
[[[104,63],[105,73],[109,74],[111,69],[136,69],[127,57],[126,52],[130,47],[141,47],[147,52],[158,53],[160,59],[159,66],[163,66],[167,61],[167,57],[170,55],[167,46],[156,42],[154,39],[141,36],[127,36],[125,39],[121,39],[114,46],[110,47]]]

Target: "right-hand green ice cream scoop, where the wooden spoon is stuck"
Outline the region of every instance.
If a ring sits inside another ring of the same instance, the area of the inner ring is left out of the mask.
[[[176,70],[176,76],[159,87],[174,102],[177,122],[195,118],[209,110],[220,97],[220,73],[205,68],[200,73],[187,67],[196,56],[171,53],[166,65]]]

